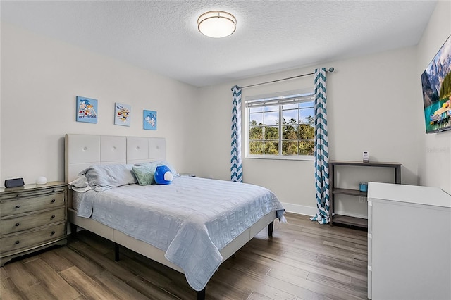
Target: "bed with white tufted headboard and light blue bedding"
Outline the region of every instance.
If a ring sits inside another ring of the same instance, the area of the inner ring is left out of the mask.
[[[116,260],[121,245],[184,273],[197,299],[223,261],[266,226],[272,236],[273,221],[284,220],[282,205],[264,187],[178,175],[166,161],[164,138],[67,134],[65,161],[74,189],[72,232],[81,227],[111,240]],[[140,185],[139,168],[152,164],[171,168],[170,185]]]

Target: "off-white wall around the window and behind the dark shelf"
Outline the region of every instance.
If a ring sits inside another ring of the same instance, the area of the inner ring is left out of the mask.
[[[369,151],[371,161],[402,163],[402,183],[418,184],[420,150],[417,145],[423,124],[422,119],[417,118],[422,102],[414,101],[418,98],[418,90],[412,89],[418,81],[415,61],[416,49],[409,47],[320,65],[335,68],[335,72],[328,73],[327,77],[330,159],[362,161],[362,151]],[[199,175],[230,177],[232,85],[252,85],[311,73],[316,67],[201,88],[201,123],[206,126],[199,138],[199,157],[202,157],[202,163],[199,161],[198,164]],[[243,89],[242,98],[311,86],[312,76],[301,77]],[[244,115],[243,108],[243,118]],[[242,130],[244,137],[245,124]],[[288,211],[306,214],[316,211],[313,161],[243,158],[243,170],[245,182],[271,189]],[[346,177],[340,177],[342,187],[357,188],[361,180],[394,180],[393,170],[346,171]],[[366,202],[351,199],[347,205],[347,200],[338,199],[338,212],[366,215]]]

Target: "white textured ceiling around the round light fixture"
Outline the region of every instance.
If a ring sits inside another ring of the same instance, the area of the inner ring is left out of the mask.
[[[197,87],[413,46],[436,1],[4,1],[1,20]],[[209,10],[237,30],[197,30]]]

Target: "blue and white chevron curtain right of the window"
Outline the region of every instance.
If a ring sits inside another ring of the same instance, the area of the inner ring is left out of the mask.
[[[326,110],[326,68],[315,70],[315,187],[318,212],[310,220],[329,223],[329,147]]]

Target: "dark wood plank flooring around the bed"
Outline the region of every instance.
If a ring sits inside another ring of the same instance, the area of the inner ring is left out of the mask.
[[[225,261],[206,299],[367,299],[366,232],[287,213]],[[1,299],[196,299],[185,275],[78,232],[67,246],[0,268]]]

